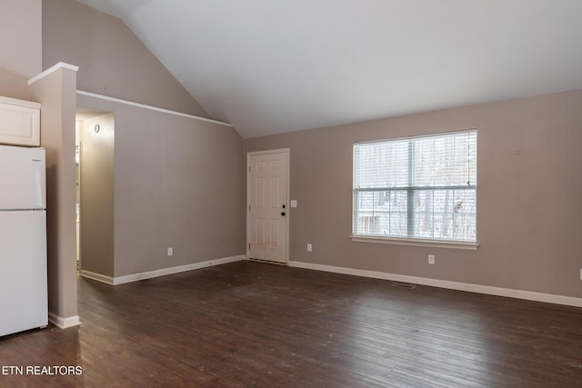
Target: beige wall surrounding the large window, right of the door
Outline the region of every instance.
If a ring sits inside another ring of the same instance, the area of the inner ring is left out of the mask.
[[[577,90],[247,139],[245,148],[291,149],[291,260],[582,297],[580,106]],[[354,142],[467,128],[478,130],[477,251],[350,241]]]

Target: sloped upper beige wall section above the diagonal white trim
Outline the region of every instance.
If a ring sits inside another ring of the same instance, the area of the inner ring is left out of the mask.
[[[74,0],[44,0],[43,68],[61,61],[79,66],[85,92],[208,117],[121,20]]]

